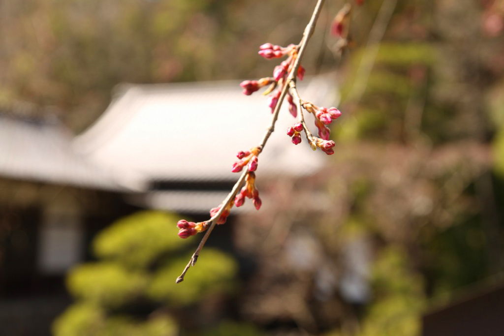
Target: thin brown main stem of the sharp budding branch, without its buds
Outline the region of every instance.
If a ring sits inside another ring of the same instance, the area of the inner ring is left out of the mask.
[[[315,29],[315,25],[317,23],[317,20],[319,19],[319,15],[322,10],[322,5],[324,4],[324,1],[325,0],[318,0],[317,1],[317,5],[315,6],[313,14],[311,15],[310,22],[308,23],[308,25],[304,29],[303,37],[301,39],[301,42],[299,43],[299,51],[298,51],[296,60],[294,61],[294,66],[292,67],[292,70],[289,73],[289,76],[287,77],[287,79],[285,81],[284,87],[283,87],[282,92],[280,94],[280,97],[278,99],[278,103],[275,106],[275,110],[273,112],[273,118],[271,120],[271,125],[270,125],[270,127],[268,127],[268,130],[266,131],[266,133],[264,135],[263,141],[261,142],[261,145],[259,146],[259,149],[260,149],[259,154],[264,149],[264,146],[266,146],[266,143],[268,142],[268,139],[270,138],[271,133],[273,133],[273,131],[275,130],[275,123],[278,119],[278,113],[280,112],[280,107],[282,106],[282,102],[287,94],[287,91],[289,90],[289,83],[292,81],[295,81],[297,71],[299,69],[299,65],[301,64],[301,58],[303,56],[304,51],[306,50],[306,45],[308,43],[308,40],[310,39],[311,35],[313,34],[313,30]],[[203,239],[201,240],[200,244],[198,245],[198,248],[194,252],[193,256],[191,257],[191,259],[189,260],[189,262],[185,266],[182,274],[175,281],[177,284],[184,281],[185,273],[187,273],[187,271],[189,270],[189,267],[194,266],[196,264],[196,261],[198,261],[198,257],[200,255],[200,252],[203,249],[203,246],[205,245],[205,243],[207,242],[207,239],[210,236],[210,233],[212,232],[215,225],[217,224],[217,221],[220,218],[224,209],[227,208],[229,203],[231,203],[231,200],[236,196],[236,193],[238,192],[238,190],[242,187],[243,182],[245,181],[246,174],[247,174],[247,170],[245,169],[243,171],[243,173],[241,174],[240,178],[238,179],[238,181],[236,182],[236,184],[233,186],[233,189],[231,190],[231,192],[227,195],[226,199],[224,199],[219,211],[214,216],[212,216],[212,218],[210,218],[210,220],[207,222],[207,225],[210,225],[210,227],[208,228],[207,232],[205,233],[205,236],[203,236]]]

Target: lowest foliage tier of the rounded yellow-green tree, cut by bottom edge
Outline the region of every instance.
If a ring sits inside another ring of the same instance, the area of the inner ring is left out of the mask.
[[[126,316],[107,318],[99,306],[75,304],[53,324],[54,336],[170,336],[177,334],[176,324],[166,316],[145,322]]]

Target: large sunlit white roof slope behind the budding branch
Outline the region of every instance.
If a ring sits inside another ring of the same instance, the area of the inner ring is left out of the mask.
[[[272,118],[267,98],[243,95],[239,83],[126,86],[74,145],[100,166],[146,180],[234,180],[236,153],[257,146]],[[300,95],[331,106],[334,83],[333,76],[307,78]],[[323,164],[326,155],[313,153],[305,138],[291,144],[285,133],[294,122],[284,106],[258,174],[304,175]],[[313,124],[309,116],[307,123]]]

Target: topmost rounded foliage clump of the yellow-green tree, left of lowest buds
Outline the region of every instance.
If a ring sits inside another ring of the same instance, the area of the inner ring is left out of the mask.
[[[104,229],[93,241],[98,257],[124,265],[145,267],[157,257],[174,252],[191,240],[180,239],[174,225],[181,218],[162,212],[144,211],[123,218]]]

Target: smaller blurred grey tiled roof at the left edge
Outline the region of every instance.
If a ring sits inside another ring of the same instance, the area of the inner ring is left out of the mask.
[[[106,190],[131,188],[75,153],[72,138],[56,118],[0,115],[0,176]]]

